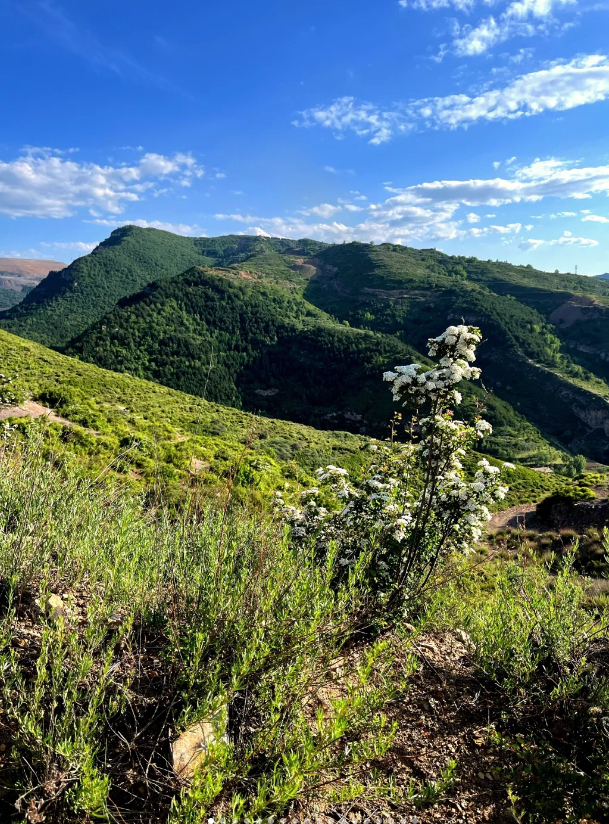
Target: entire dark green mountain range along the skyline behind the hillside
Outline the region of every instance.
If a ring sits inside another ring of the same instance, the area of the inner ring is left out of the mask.
[[[193,268],[196,267],[196,268]],[[490,451],[609,461],[609,284],[393,244],[116,230],[0,326],[83,360],[318,428],[385,432],[380,372],[479,325]],[[607,332],[605,331],[607,330]],[[605,337],[607,336],[607,337]]]

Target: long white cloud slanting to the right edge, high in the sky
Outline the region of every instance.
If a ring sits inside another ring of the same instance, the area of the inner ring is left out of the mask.
[[[475,96],[453,94],[382,108],[374,103],[340,97],[327,107],[307,109],[294,125],[332,129],[336,137],[355,132],[374,145],[400,134],[421,130],[456,129],[480,120],[505,121],[561,112],[609,98],[609,58],[602,54],[556,62],[517,77],[507,86]],[[506,165],[515,158],[506,161]],[[498,168],[500,161],[493,163]]]

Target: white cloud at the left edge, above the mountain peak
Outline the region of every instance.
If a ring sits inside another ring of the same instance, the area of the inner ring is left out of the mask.
[[[78,209],[120,214],[127,203],[158,193],[159,181],[190,186],[202,175],[191,154],[148,152],[132,165],[100,166],[30,150],[0,161],[0,214],[62,218]]]

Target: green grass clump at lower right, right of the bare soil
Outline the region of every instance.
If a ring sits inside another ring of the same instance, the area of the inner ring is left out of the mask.
[[[491,587],[461,562],[427,605],[432,626],[467,633],[481,686],[501,702],[489,732],[519,822],[609,820],[609,615],[586,606],[576,554],[556,568],[523,540]]]

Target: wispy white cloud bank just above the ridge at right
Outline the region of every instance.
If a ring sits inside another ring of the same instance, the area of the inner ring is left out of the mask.
[[[477,206],[534,203],[545,198],[581,199],[609,194],[609,166],[579,167],[555,159],[536,160],[521,168],[511,167],[509,177],[473,180],[432,180],[405,188],[386,187],[390,197],[359,206],[357,216],[346,201],[321,204],[300,210],[294,216],[265,217],[251,214],[218,214],[218,220],[244,224],[248,232],[282,237],[315,237],[320,240],[363,240],[417,243],[463,240],[496,235],[514,242],[532,225],[523,222],[483,225],[484,217],[472,212]],[[353,204],[349,204],[353,205]],[[341,212],[341,220],[335,216]],[[308,218],[308,219],[307,219]],[[322,218],[311,220],[311,218]],[[352,222],[353,221],[353,222]],[[609,221],[608,221],[609,222]],[[526,223],[526,225],[524,225]],[[565,232],[555,240],[527,238],[521,248],[538,245],[596,246],[592,238],[573,237]]]

